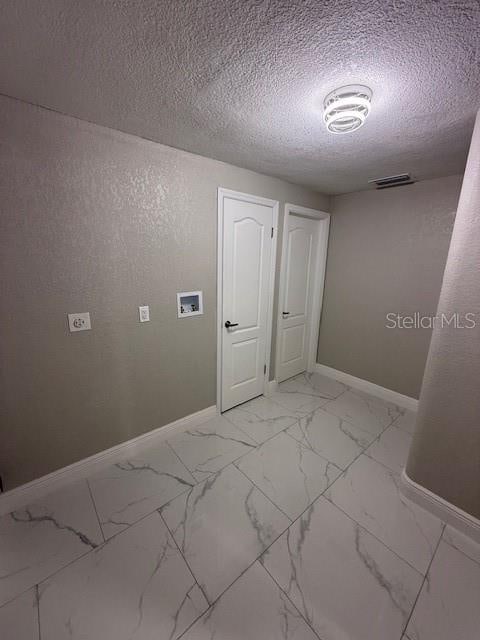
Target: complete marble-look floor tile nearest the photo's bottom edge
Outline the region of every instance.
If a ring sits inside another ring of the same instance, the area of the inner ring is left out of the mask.
[[[288,518],[229,465],[161,514],[209,602],[288,527]]]

